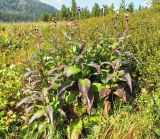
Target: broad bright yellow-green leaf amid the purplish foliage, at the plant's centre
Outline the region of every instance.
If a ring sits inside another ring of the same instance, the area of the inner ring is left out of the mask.
[[[70,77],[71,75],[75,75],[77,73],[81,72],[81,69],[78,68],[78,67],[75,67],[75,66],[71,66],[71,67],[66,67],[64,69],[64,74],[67,76],[67,77]]]

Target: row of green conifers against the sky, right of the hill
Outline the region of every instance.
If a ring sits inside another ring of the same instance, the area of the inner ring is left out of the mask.
[[[125,0],[121,1],[121,6],[119,7],[120,10],[129,9],[130,12],[139,11],[142,9],[145,9],[147,7],[144,7],[142,5],[139,5],[138,9],[135,8],[135,5],[133,2],[129,3],[126,6]],[[40,20],[41,21],[51,21],[52,17],[56,17],[57,20],[70,20],[72,18],[81,18],[81,19],[87,19],[90,17],[99,17],[99,16],[105,16],[107,14],[113,13],[115,10],[115,6],[112,3],[109,5],[103,5],[100,6],[98,3],[95,3],[91,10],[88,9],[88,7],[79,7],[76,3],[76,0],[72,0],[71,7],[67,7],[65,5],[62,5],[61,9],[54,13],[41,13]],[[80,15],[80,16],[79,16]]]

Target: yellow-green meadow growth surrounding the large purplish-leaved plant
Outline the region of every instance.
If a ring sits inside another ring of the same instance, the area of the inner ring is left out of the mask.
[[[125,49],[131,51],[138,61],[136,70],[139,77],[133,97],[127,103],[115,101],[114,108],[107,117],[97,112],[95,117],[98,124],[88,123],[80,138],[158,139],[160,137],[159,12],[151,8],[133,13],[127,25],[123,14],[118,21],[114,20],[114,15],[109,15],[105,18],[97,17],[77,22],[78,26],[58,23],[57,27],[52,23],[43,22],[0,24],[0,103],[3,104],[0,106],[0,138],[66,138],[67,125],[55,123],[55,127],[50,127],[46,121],[39,120],[39,125],[44,125],[42,134],[40,130],[34,129],[34,124],[27,127],[23,115],[24,107],[18,110],[15,108],[23,98],[25,70],[28,67],[33,68],[36,63],[36,60],[30,62],[30,59],[38,53],[37,48],[48,50],[55,46],[55,40],[57,44],[65,46],[65,33],[74,33],[74,39],[87,42],[88,45],[97,41],[102,41],[100,44],[106,42],[110,44],[110,40],[104,41],[104,38],[100,40],[100,36],[103,35],[103,33],[99,35],[101,32],[106,31],[106,34],[108,33],[114,40],[115,36],[119,37],[127,28]],[[116,30],[115,24],[118,25]],[[66,54],[67,56],[69,54]],[[64,58],[63,61],[65,60]]]

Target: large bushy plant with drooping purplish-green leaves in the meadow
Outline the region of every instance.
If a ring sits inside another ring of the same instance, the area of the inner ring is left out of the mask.
[[[127,32],[114,38],[97,29],[91,42],[72,31],[64,37],[53,48],[37,47],[24,75],[25,97],[17,108],[25,109],[26,137],[85,136],[89,126],[98,124],[97,113],[106,118],[116,99],[131,99],[136,61],[125,51]]]

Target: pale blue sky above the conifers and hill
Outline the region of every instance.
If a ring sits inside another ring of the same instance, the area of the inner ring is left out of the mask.
[[[66,6],[71,5],[71,0],[41,0],[44,3],[50,4],[54,6],[57,9],[60,9],[62,4],[65,4]],[[111,3],[114,3],[115,7],[118,8],[121,0],[76,0],[77,5],[80,7],[88,7],[91,9],[91,7],[94,5],[94,3],[98,3],[100,6],[107,4],[111,5]],[[146,3],[144,0],[126,0],[126,4],[133,2],[135,7],[138,7],[139,5],[146,6]]]

